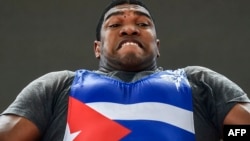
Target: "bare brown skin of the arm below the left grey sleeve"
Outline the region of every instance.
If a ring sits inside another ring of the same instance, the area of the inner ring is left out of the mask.
[[[39,130],[31,121],[15,115],[0,116],[0,141],[37,141]]]

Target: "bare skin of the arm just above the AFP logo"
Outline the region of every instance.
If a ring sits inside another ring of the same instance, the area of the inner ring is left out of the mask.
[[[225,124],[231,125],[250,125],[250,103],[236,104],[226,115]]]

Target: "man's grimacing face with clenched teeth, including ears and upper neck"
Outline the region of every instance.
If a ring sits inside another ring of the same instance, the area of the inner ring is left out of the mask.
[[[100,41],[94,51],[105,71],[156,69],[159,40],[149,12],[138,5],[111,8],[104,16]]]

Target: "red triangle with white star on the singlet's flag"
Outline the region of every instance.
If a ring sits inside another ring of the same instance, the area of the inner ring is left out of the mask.
[[[81,131],[74,141],[118,141],[130,133],[129,129],[73,97],[69,98],[68,108],[70,132]]]

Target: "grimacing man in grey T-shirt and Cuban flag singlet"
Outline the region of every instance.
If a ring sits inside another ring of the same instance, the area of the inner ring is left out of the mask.
[[[225,124],[250,124],[250,100],[204,67],[157,67],[147,7],[114,0],[96,30],[97,71],[48,73],[0,116],[1,141],[218,141]]]

